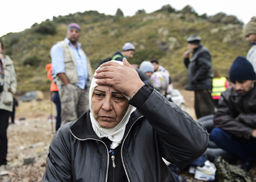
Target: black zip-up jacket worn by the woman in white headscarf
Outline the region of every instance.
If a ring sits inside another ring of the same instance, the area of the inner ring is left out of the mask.
[[[129,103],[136,107],[139,101],[134,96]],[[162,157],[189,163],[204,153],[208,141],[201,125],[154,90],[131,114],[120,144],[128,181],[175,182]],[[42,181],[107,182],[108,162],[107,146],[93,131],[88,111],[54,134]]]

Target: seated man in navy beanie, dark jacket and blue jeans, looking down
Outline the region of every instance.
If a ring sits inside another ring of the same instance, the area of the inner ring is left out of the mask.
[[[244,57],[229,71],[231,86],[221,94],[210,139],[249,170],[256,157],[256,75]]]

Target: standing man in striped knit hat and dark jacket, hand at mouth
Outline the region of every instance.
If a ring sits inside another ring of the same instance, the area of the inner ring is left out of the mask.
[[[211,98],[213,73],[211,54],[201,43],[201,37],[196,34],[187,39],[187,51],[183,54],[187,67],[186,90],[195,92],[195,114],[197,119],[214,113],[214,103]],[[193,54],[189,59],[190,52]]]

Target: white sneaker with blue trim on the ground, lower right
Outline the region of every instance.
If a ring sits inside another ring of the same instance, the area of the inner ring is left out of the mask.
[[[204,162],[204,166],[197,166],[195,169],[195,179],[199,180],[214,180],[215,179],[216,167],[214,163],[211,163],[209,160]]]

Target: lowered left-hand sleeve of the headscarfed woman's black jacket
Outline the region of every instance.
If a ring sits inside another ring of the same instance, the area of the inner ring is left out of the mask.
[[[45,172],[42,177],[42,182],[70,182],[71,177],[71,147],[69,140],[69,125],[66,124],[65,128],[59,129],[53,136]]]

